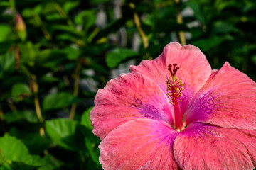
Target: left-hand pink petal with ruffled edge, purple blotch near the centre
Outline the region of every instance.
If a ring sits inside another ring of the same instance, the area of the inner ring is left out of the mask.
[[[95,108],[90,112],[93,132],[102,140],[118,125],[137,118],[174,125],[168,102],[151,79],[137,72],[121,74],[97,92]]]

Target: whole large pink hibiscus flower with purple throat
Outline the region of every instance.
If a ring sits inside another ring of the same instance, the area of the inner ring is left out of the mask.
[[[172,42],[95,97],[90,113],[103,169],[253,169],[256,84],[225,62],[211,70]]]

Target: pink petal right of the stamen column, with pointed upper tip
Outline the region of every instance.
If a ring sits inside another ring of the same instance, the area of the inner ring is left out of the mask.
[[[256,84],[226,62],[214,71],[188,105],[186,124],[210,123],[224,128],[256,128]]]

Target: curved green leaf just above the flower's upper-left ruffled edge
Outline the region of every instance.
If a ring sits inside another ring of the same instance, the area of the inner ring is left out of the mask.
[[[117,67],[119,62],[122,62],[122,60],[127,59],[127,57],[133,57],[135,55],[138,55],[138,53],[134,52],[134,50],[127,48],[116,48],[107,54],[107,66],[110,68]]]

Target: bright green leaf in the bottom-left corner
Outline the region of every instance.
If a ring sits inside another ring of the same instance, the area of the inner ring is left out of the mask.
[[[15,137],[9,135],[0,137],[0,149],[5,162],[21,162],[29,166],[41,166],[43,164],[41,157],[29,154],[23,142]]]

